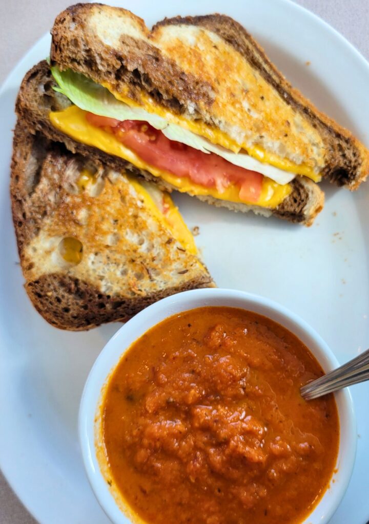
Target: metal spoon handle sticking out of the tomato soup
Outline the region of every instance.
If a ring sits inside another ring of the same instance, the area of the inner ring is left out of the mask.
[[[309,382],[300,389],[305,400],[322,397],[332,391],[369,380],[369,350],[353,358],[347,364]]]

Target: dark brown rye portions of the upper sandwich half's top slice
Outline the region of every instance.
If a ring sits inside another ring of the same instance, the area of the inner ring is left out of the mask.
[[[187,105],[188,102],[196,105],[196,101],[201,99],[204,103],[211,104],[206,82],[178,70],[175,62],[165,58],[150,43],[127,36],[122,42],[123,52],[107,49],[98,42],[93,49],[87,47],[83,39],[83,27],[91,5],[103,7],[103,4],[76,4],[56,18],[51,31],[51,60],[62,69],[70,67],[96,82],[105,81],[115,85],[118,91],[120,85],[129,84],[133,99],[135,89],[143,88],[157,102],[180,114],[185,111],[184,104]],[[143,20],[138,17],[135,20],[139,20],[145,28]],[[81,30],[71,35],[70,24],[78,24]],[[160,26],[178,24],[201,26],[223,38],[260,72],[284,101],[311,122],[321,135],[327,150],[322,171],[324,177],[351,190],[357,189],[366,179],[369,173],[369,151],[348,130],[319,112],[298,90],[293,89],[243,26],[232,18],[219,14],[178,16],[158,22],[152,33]],[[201,114],[195,116],[202,118]]]

